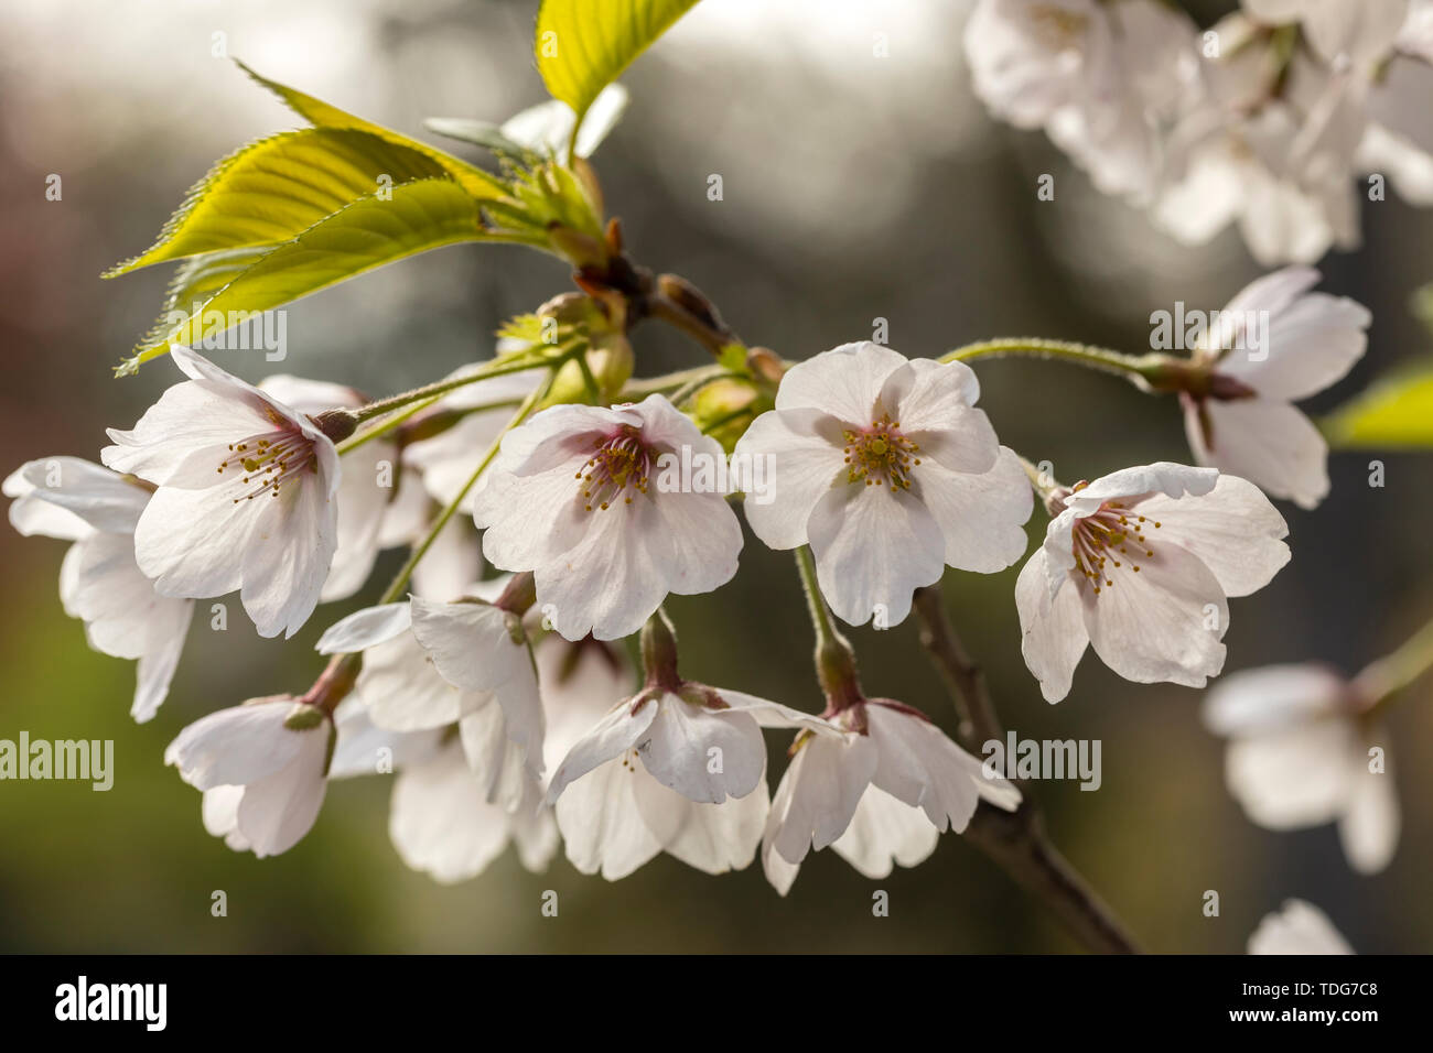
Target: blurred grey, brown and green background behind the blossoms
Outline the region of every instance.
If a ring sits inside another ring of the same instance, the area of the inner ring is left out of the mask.
[[[1232,3],[1194,4],[1201,24]],[[1042,133],[992,122],[973,99],[960,0],[705,0],[629,70],[633,102],[596,156],[608,209],[633,255],[696,282],[748,342],[804,358],[871,337],[907,355],[996,335],[1088,340],[1139,351],[1175,299],[1222,305],[1258,271],[1237,235],[1191,249],[1102,198]],[[295,119],[232,63],[431,139],[426,116],[500,120],[540,102],[535,0],[0,0],[0,470],[49,454],[97,456],[173,383],[158,361],[110,367],[158,314],[169,268],[113,282],[185,191],[239,145]],[[873,54],[874,34],[890,57]],[[459,146],[456,152],[463,152]],[[464,153],[464,156],[473,156]],[[1036,179],[1056,176],[1056,201]],[[46,178],[62,176],[62,201]],[[708,201],[719,173],[724,199]],[[1323,262],[1326,289],[1373,309],[1370,350],[1314,403],[1327,408],[1429,352],[1407,311],[1433,278],[1433,212],[1364,203],[1364,245]],[[219,360],[249,380],[282,370],[374,394],[492,354],[493,330],[569,288],[523,249],[433,252],[301,301],[288,360]],[[665,331],[635,332],[638,371],[701,364]],[[979,367],[1000,437],[1068,481],[1132,463],[1188,460],[1176,405],[1058,364]],[[1381,454],[1377,454],[1383,457]],[[1346,672],[1433,616],[1427,556],[1433,460],[1336,456],[1317,513],[1281,506],[1294,560],[1231,605],[1227,670],[1326,659]],[[1032,519],[1043,532],[1043,517]],[[203,832],[199,794],[162,764],[181,726],[212,709],[302,691],[324,626],[371,602],[324,607],[289,645],[229,632],[201,606],[169,702],[128,718],[133,666],[90,652],[57,599],[64,546],[0,530],[0,738],[115,741],[115,788],[0,782],[0,951],[1069,951],[1059,924],[972,847],[941,838],[916,870],[870,883],[833,852],[780,898],[759,864],[719,878],[662,855],[616,884],[563,858],[527,874],[509,851],[480,878],[440,887],[387,838],[383,776],[335,784],[315,830],[258,861]],[[1135,686],[1086,658],[1046,705],[1019,656],[1016,570],[946,579],[953,617],[986,666],[1007,726],[1098,738],[1103,787],[1042,787],[1056,844],[1155,951],[1242,953],[1258,918],[1298,895],[1360,951],[1426,951],[1433,913],[1433,683],[1391,715],[1403,840],[1374,878],[1354,875],[1333,827],[1251,825],[1222,782],[1222,745],[1199,692]],[[674,597],[684,673],[817,709],[810,629],[791,559],[748,536],[721,592]],[[953,723],[916,626],[851,633],[867,688]],[[774,764],[785,741],[771,739]],[[775,774],[772,775],[772,785]],[[871,917],[871,890],[890,917]],[[228,917],[211,917],[211,893]],[[559,918],[540,914],[556,890]],[[1201,913],[1205,890],[1221,915]]]

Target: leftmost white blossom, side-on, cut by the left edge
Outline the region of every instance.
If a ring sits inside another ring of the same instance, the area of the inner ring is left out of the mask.
[[[46,457],[4,480],[10,523],[21,534],[72,542],[60,566],[64,613],[85,622],[89,645],[136,659],[130,715],[153,718],[169,693],[193,600],[160,596],[135,563],[135,526],[150,489],[77,457]]]

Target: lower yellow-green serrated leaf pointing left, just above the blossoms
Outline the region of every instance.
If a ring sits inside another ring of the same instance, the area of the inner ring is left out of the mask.
[[[387,201],[377,195],[355,201],[258,256],[201,256],[181,272],[181,291],[186,295],[206,292],[202,308],[191,312],[191,305],[171,291],[172,305],[185,317],[162,319],[118,372],[133,372],[150,358],[166,354],[171,342],[195,344],[226,331],[246,315],[292,302],[375,266],[466,241],[526,244],[516,235],[484,228],[480,202],[451,179],[440,178],[394,186]],[[226,275],[225,268],[232,271],[235,262],[246,265]]]

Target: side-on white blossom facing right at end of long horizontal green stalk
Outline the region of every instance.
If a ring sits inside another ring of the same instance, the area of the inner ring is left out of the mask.
[[[1328,444],[1293,403],[1353,368],[1371,321],[1369,309],[1347,297],[1310,292],[1318,278],[1311,266],[1290,266],[1234,297],[1221,315],[1267,319],[1267,345],[1251,347],[1244,331],[1207,342],[1195,361],[1212,370],[1212,391],[1181,394],[1195,460],[1303,509],[1328,496]],[[1221,397],[1221,388],[1232,390]]]

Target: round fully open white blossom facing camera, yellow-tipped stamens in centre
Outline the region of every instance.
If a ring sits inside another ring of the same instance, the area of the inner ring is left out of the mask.
[[[810,544],[831,609],[896,625],[946,564],[1003,570],[1025,553],[1033,497],[1019,458],[974,408],[970,367],[843,344],[792,367],[775,408],[737,443],[771,457],[772,500],[745,500],[772,549]]]

